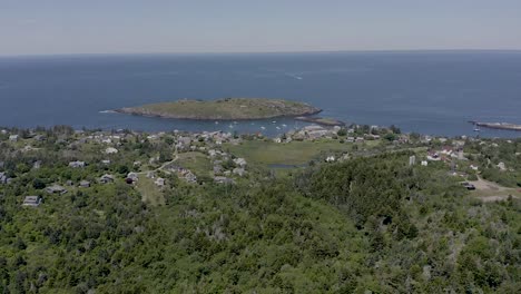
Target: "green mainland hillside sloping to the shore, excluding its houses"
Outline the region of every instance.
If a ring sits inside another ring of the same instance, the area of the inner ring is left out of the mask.
[[[465,141],[471,192],[410,165],[446,141],[205,135],[0,133],[0,293],[520,292],[521,139]]]

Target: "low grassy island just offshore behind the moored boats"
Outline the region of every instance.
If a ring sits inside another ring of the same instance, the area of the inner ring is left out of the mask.
[[[197,120],[250,120],[311,116],[322,109],[304,102],[266,98],[184,99],[116,109],[121,114]]]

